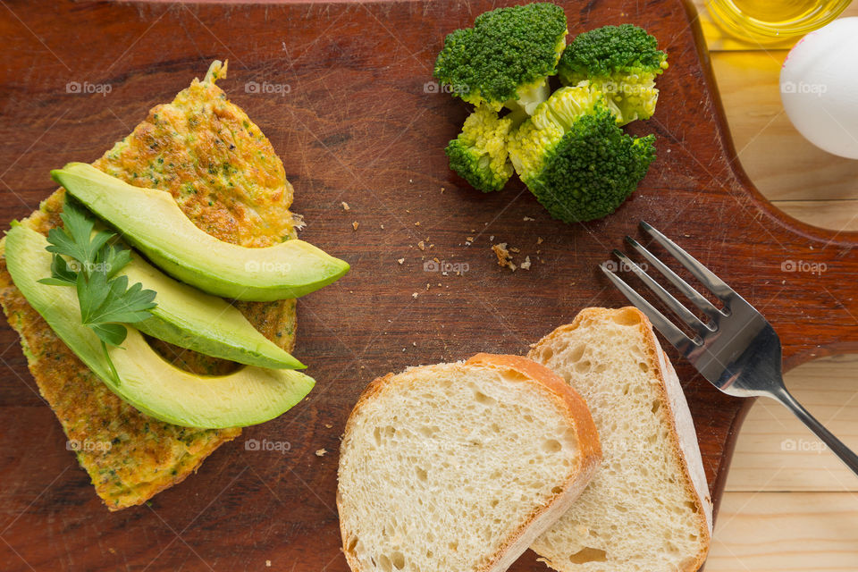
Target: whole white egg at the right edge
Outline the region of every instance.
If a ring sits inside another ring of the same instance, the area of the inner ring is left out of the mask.
[[[793,47],[780,71],[780,98],[805,138],[858,159],[858,18],[833,21]]]

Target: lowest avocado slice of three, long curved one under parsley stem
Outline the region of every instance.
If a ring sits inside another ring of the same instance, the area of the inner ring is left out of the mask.
[[[80,324],[75,290],[38,282],[51,273],[50,253],[34,248],[19,224],[6,235],[5,257],[15,286],[56,335],[111,391],[149,416],[206,429],[256,425],[281,415],[313,389],[313,378],[290,369],[245,366],[229,375],[189,374],[164,361],[132,327],[121,348],[109,349],[117,383],[98,337]]]

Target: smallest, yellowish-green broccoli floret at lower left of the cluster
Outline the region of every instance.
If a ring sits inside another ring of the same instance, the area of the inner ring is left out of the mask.
[[[450,169],[483,192],[501,190],[512,176],[507,138],[513,127],[509,114],[499,117],[491,105],[480,105],[468,115],[458,138],[445,149]]]

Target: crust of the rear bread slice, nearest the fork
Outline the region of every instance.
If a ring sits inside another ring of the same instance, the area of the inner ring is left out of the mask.
[[[631,306],[617,309],[587,307],[575,316],[571,324],[559,326],[544,336],[542,340],[533,344],[527,355],[528,357],[536,356],[543,346],[550,345],[556,338],[575,330],[585,322],[601,321],[604,316],[613,317],[621,313],[635,315],[638,320],[637,328],[646,345],[645,352],[650,362],[649,366],[652,367],[653,374],[660,381],[658,390],[660,399],[667,406],[667,408],[660,409],[662,422],[669,426],[670,445],[683,468],[682,479],[686,494],[693,498],[697,504],[698,531],[704,539],[703,548],[695,556],[694,561],[689,561],[686,568],[679,570],[679,572],[697,572],[706,560],[711,543],[711,495],[706,483],[700,450],[696,446],[697,436],[694,431],[694,422],[688,412],[685,394],[682,391],[676,370],[670,364],[667,354],[661,349],[658,338],[652,330],[652,324],[646,315],[636,307]]]

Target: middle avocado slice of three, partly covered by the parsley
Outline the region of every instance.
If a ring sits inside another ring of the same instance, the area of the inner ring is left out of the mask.
[[[44,235],[26,226],[16,226],[15,233],[21,235],[16,240],[28,251],[44,250],[48,244]],[[136,324],[139,331],[181,348],[248,366],[305,367],[265,338],[225,300],[172,280],[139,255],[135,254],[120,274],[128,276],[129,284],[141,282],[144,289],[156,291],[157,306],[151,318]]]

